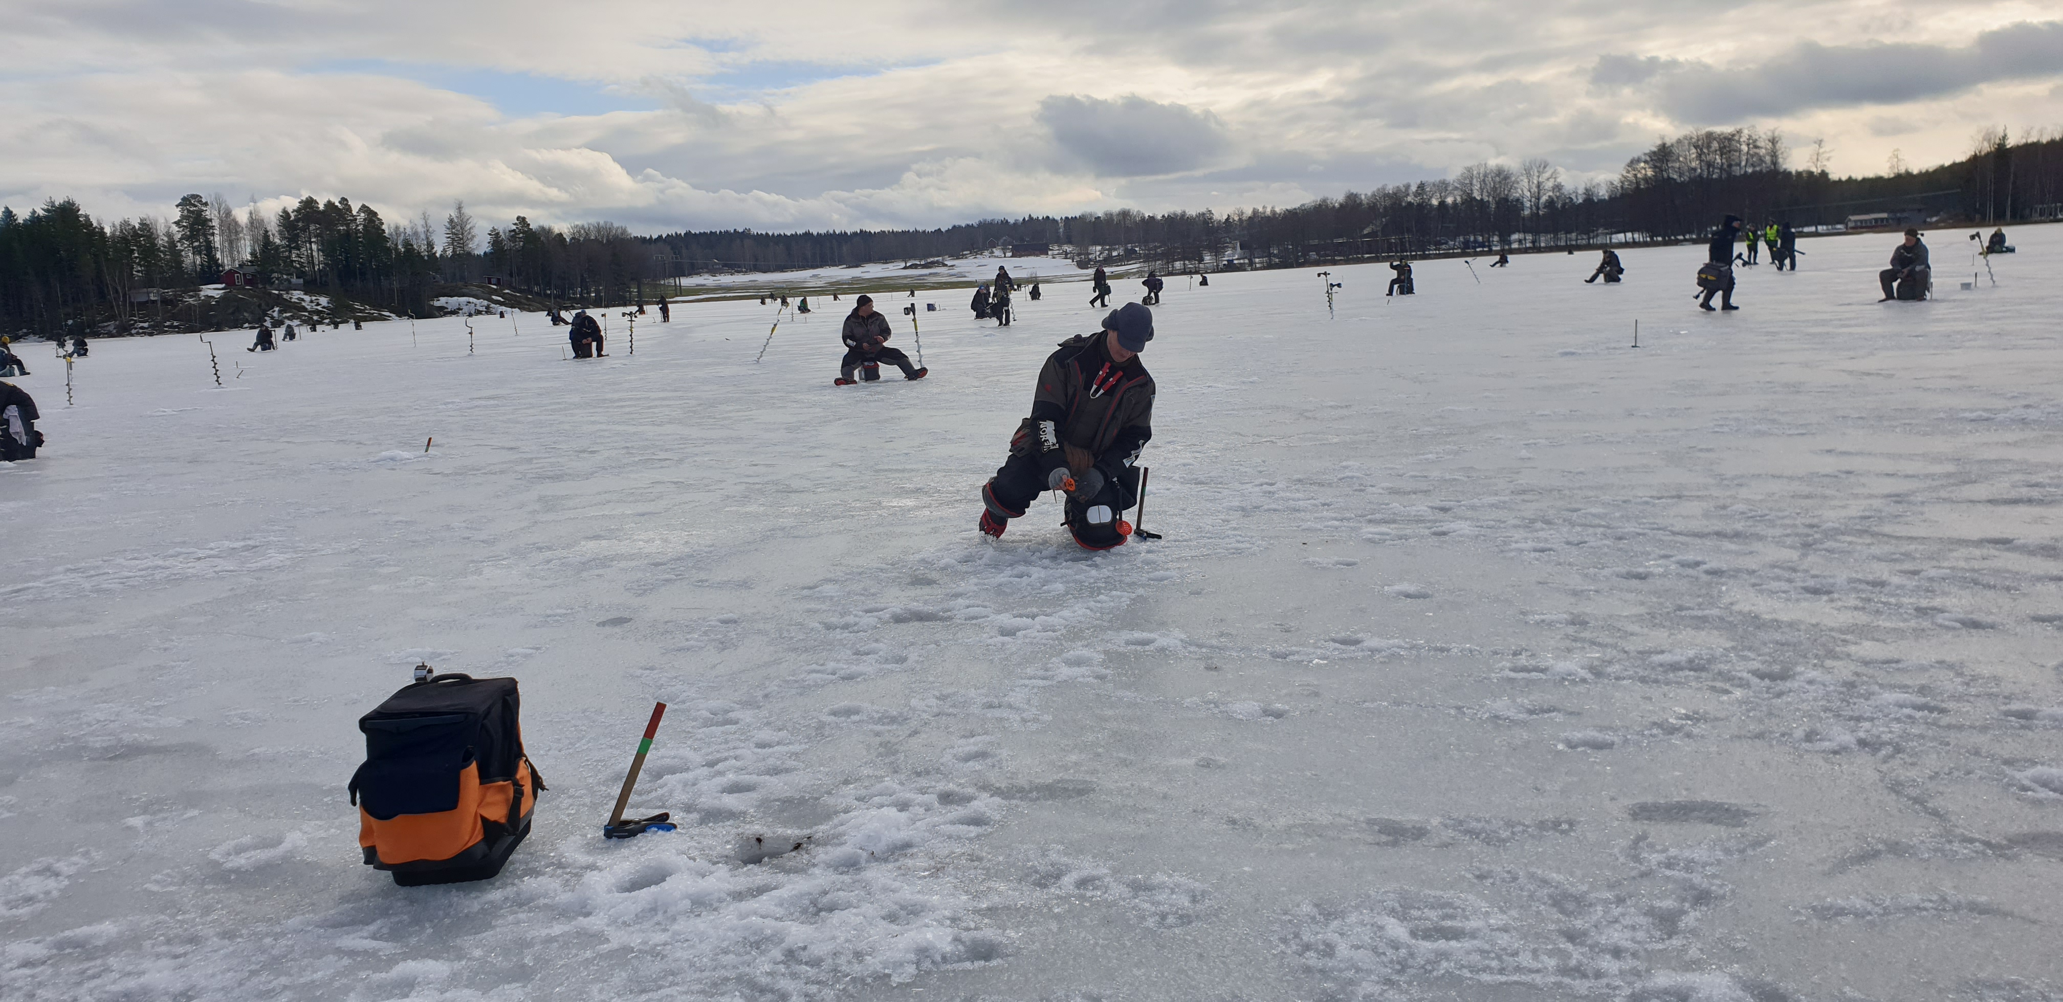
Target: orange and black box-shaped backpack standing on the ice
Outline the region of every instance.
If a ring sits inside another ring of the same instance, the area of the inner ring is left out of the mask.
[[[417,678],[359,717],[365,765],[351,802],[365,866],[402,887],[487,880],[530,835],[545,790],[522,750],[516,680]]]

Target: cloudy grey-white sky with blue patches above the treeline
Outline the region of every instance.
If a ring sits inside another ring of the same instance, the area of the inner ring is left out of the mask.
[[[1296,204],[1661,134],[2063,124],[2063,0],[0,0],[0,202],[637,231]]]

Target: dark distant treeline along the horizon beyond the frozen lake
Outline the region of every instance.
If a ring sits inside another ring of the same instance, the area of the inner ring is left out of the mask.
[[[1803,165],[1791,161],[1805,155]],[[1826,148],[1791,151],[1774,130],[1700,130],[1661,140],[1609,183],[1578,188],[1547,161],[1479,163],[1454,177],[1347,192],[1294,208],[1089,212],[986,219],[945,229],[852,233],[697,231],[637,237],[615,223],[565,229],[516,216],[483,235],[464,202],[437,227],[427,212],[388,225],[349,198],[301,198],[264,216],[190,194],[167,219],[103,225],[72,200],[27,216],[0,208],[0,332],[128,328],[146,289],[223,280],[229,266],[268,287],[303,287],[411,315],[439,282],[497,280],[536,297],[621,305],[654,278],[769,272],[883,260],[930,260],[1048,243],[1095,260],[1166,270],[1289,266],[1370,256],[1576,247],[1702,237],[1733,212],[1797,227],[1851,214],[1917,212],[1956,223],[2055,219],[2063,208],[2063,134],[2013,140],[1987,130],[1956,163],[1832,177]]]

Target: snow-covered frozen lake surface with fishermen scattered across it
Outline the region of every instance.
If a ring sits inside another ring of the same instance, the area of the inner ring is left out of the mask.
[[[2063,227],[2011,237],[1737,313],[1702,247],[1172,280],[1166,540],[1102,555],[974,530],[1079,285],[922,293],[932,377],[860,388],[755,301],[221,334],[223,388],[101,340],[70,408],[31,344],[0,996],[2059,1000]],[[522,680],[497,880],[359,864],[419,658]],[[604,843],[654,699],[683,827]]]

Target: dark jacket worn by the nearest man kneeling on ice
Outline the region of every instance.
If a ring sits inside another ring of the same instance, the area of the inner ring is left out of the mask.
[[[1104,478],[1116,480],[1153,437],[1153,375],[1137,355],[1114,365],[1104,332],[1067,338],[1038,371],[1029,425],[1032,449],[1046,470],[1067,466],[1060,445],[1075,445],[1095,456]]]

